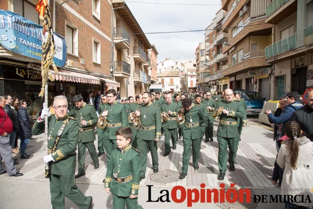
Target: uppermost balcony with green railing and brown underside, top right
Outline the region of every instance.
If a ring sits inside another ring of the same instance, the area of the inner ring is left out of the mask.
[[[297,0],[273,0],[266,7],[266,23],[277,24],[297,11]]]

